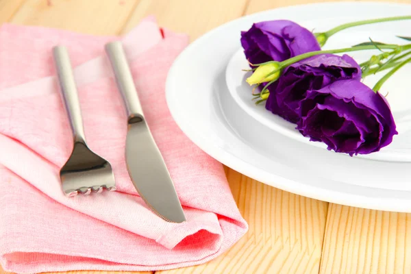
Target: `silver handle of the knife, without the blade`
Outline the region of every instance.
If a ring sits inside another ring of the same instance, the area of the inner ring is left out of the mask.
[[[143,121],[144,116],[142,114],[140,99],[138,99],[132,72],[125,58],[123,45],[119,41],[110,42],[105,45],[105,51],[110,59],[117,87],[123,96],[127,108],[128,123]]]

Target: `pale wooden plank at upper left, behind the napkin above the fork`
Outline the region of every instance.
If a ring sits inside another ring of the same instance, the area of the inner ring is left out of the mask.
[[[138,0],[26,0],[11,23],[95,35],[119,34]]]

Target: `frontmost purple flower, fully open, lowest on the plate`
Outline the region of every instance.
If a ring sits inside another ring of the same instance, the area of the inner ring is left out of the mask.
[[[329,150],[368,154],[398,134],[386,99],[358,80],[336,81],[307,93],[297,129],[312,141],[325,142]]]

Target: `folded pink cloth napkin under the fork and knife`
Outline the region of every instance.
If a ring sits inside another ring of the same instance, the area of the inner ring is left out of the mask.
[[[223,166],[173,121],[164,83],[188,44],[153,18],[121,38],[142,108],[187,221],[153,214],[127,174],[125,109],[96,37],[42,27],[0,27],[0,258],[6,271],[152,271],[207,262],[247,232]],[[66,198],[58,171],[71,129],[55,84],[53,45],[68,47],[94,151],[110,161],[117,192]],[[195,92],[195,90],[193,90]]]

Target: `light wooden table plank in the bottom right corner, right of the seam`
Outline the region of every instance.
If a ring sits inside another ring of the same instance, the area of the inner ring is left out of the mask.
[[[411,273],[411,214],[329,205],[320,273]]]

